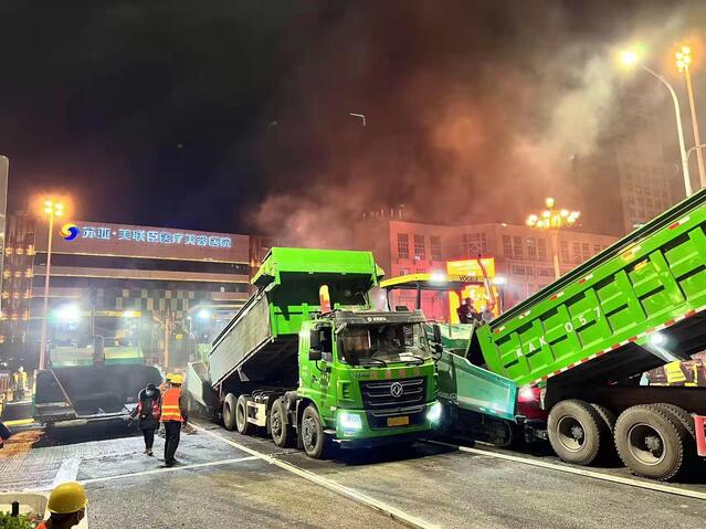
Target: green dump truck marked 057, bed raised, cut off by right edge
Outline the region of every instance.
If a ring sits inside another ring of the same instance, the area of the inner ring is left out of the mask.
[[[531,432],[562,459],[617,449],[634,474],[672,479],[706,456],[706,389],[644,385],[642,374],[706,348],[705,309],[702,190],[474,326],[465,355],[440,360],[440,396],[457,423],[473,412],[513,427],[530,424],[513,401],[536,399],[548,416]]]

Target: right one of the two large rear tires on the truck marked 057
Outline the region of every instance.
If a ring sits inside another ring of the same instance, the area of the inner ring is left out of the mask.
[[[661,482],[684,470],[688,435],[668,411],[649,404],[629,408],[615,423],[615,447],[625,466]]]

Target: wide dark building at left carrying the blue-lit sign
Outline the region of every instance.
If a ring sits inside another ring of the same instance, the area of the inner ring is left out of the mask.
[[[64,226],[75,228],[75,239],[62,234]],[[39,350],[48,241],[46,222],[27,214],[11,219],[0,336],[7,347],[21,346],[28,364]],[[181,339],[181,331],[209,327],[204,335],[212,337],[247,299],[253,267],[272,244],[228,233],[57,222],[52,234],[50,335],[52,314],[71,305],[94,319],[138,315],[140,346],[148,355],[164,349],[165,328]],[[206,326],[204,314],[218,321]]]

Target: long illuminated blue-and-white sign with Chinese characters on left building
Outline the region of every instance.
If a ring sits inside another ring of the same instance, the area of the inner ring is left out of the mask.
[[[75,226],[75,224],[74,224]],[[119,228],[112,230],[106,226],[81,226],[78,239],[94,239],[97,241],[134,242],[147,244],[169,244],[183,246],[204,246],[212,248],[230,248],[231,237],[206,235],[188,232],[165,232],[157,230],[128,230]],[[71,241],[71,239],[66,239]]]

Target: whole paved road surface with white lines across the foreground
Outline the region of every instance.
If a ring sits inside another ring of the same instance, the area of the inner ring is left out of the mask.
[[[92,528],[703,528],[706,520],[706,479],[658,490],[622,468],[587,472],[542,454],[428,442],[318,462],[266,438],[197,429],[182,435],[172,469],[120,430],[55,440],[28,431],[0,453],[0,489],[82,480]],[[158,437],[156,455],[162,446]]]

